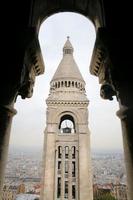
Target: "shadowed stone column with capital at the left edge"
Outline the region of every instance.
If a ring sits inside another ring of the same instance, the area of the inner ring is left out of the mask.
[[[2,193],[4,171],[8,156],[8,146],[10,139],[10,130],[12,117],[16,114],[12,106],[0,106],[0,194]]]

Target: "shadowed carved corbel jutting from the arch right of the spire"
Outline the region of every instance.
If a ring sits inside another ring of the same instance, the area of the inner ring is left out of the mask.
[[[108,34],[104,28],[99,28],[93,50],[90,73],[98,76],[99,83],[102,84],[100,95],[103,99],[113,100],[116,95],[112,81],[112,63],[108,50]]]

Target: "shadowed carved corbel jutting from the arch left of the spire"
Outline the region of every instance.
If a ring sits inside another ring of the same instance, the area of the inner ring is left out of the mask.
[[[44,63],[41,55],[38,36],[34,33],[31,37],[24,56],[24,65],[21,74],[18,95],[22,99],[30,98],[33,94],[35,77],[44,73]]]

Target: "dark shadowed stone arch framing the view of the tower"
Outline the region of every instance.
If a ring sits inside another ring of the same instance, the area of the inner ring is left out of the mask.
[[[39,27],[51,14],[77,12],[89,18],[96,27],[96,42],[90,66],[91,74],[99,77],[101,97],[112,100],[116,95],[120,104],[117,115],[121,119],[128,198],[133,199],[133,79],[132,6],[126,2],[106,0],[29,0],[3,2],[8,18],[2,17],[3,72],[0,77],[0,186],[8,152],[14,102],[18,95],[32,96],[35,76],[44,73],[44,63],[38,42]],[[126,26],[123,26],[126,22]],[[7,33],[10,36],[7,37]],[[8,47],[8,51],[4,51]],[[8,59],[7,59],[8,58]],[[3,80],[4,76],[4,80]]]

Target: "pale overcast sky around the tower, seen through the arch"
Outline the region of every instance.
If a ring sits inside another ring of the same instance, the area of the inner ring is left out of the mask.
[[[99,95],[98,78],[89,73],[89,64],[95,42],[95,29],[85,17],[74,13],[60,13],[47,18],[42,24],[39,41],[44,57],[45,73],[36,78],[33,97],[17,98],[18,113],[13,118],[10,146],[41,147],[45,129],[45,100],[49,82],[62,59],[62,48],[67,36],[74,47],[75,61],[86,82],[89,104],[89,128],[92,149],[122,149],[119,109],[116,98],[103,100]]]

